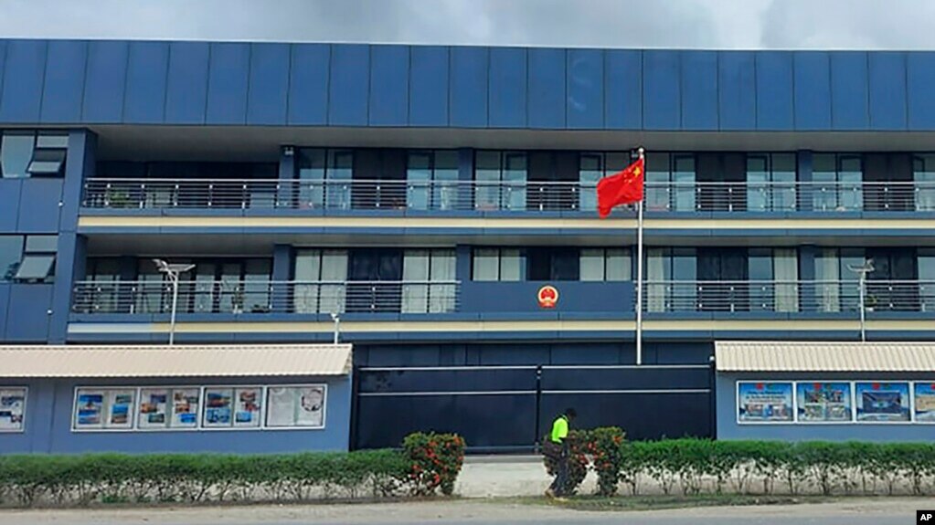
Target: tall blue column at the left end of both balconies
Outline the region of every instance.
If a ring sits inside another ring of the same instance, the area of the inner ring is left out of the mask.
[[[55,263],[55,285],[52,288],[49,342],[63,345],[68,333],[68,313],[71,311],[75,282],[85,275],[86,246],[78,234],[78,215],[84,180],[94,177],[97,162],[97,136],[88,130],[68,134],[65,162],[65,185],[62,189],[59,219],[58,252]]]

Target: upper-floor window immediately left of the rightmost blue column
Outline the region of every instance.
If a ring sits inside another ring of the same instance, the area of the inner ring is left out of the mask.
[[[747,155],[747,209],[750,211],[796,209],[795,153]]]

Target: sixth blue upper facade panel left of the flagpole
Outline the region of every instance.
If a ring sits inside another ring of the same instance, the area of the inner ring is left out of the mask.
[[[439,46],[410,48],[410,126],[448,125],[449,49]]]

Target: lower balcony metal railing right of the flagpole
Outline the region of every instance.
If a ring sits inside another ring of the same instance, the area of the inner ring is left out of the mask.
[[[648,281],[647,312],[857,312],[858,281]],[[935,312],[935,281],[868,280],[870,312]]]

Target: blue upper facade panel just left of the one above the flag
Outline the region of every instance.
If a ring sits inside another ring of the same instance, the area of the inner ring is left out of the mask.
[[[604,127],[604,53],[568,50],[568,128]]]

